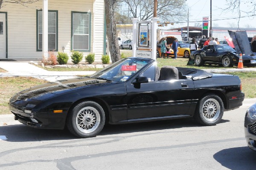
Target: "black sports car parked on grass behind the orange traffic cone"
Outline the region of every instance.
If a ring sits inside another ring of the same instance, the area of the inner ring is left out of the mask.
[[[191,52],[190,58],[195,60],[197,66],[208,63],[231,67],[238,65],[239,62],[239,54],[236,54],[236,50],[225,44],[204,46],[200,50]],[[244,66],[256,66],[256,53],[243,55],[242,59]]]

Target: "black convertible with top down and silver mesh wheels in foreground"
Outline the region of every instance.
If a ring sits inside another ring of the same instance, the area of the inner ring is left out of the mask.
[[[105,123],[125,124],[194,117],[217,124],[224,109],[242,105],[238,76],[200,69],[157,67],[147,58],[125,58],[87,77],[49,82],[15,94],[15,119],[37,128],[64,129],[81,138]]]

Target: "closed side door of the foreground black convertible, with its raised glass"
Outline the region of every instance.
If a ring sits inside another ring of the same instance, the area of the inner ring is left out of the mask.
[[[154,72],[153,64],[141,74],[149,82],[140,84],[140,88],[135,88],[133,84],[126,85],[128,120],[192,115],[189,110],[194,89],[192,79],[157,81]]]

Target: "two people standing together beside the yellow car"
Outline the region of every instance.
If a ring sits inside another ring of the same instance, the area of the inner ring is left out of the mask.
[[[162,40],[161,42],[161,58],[165,56],[165,53],[167,55],[167,58],[169,58],[169,55],[170,55],[170,45],[167,45],[166,44],[166,37]],[[173,41],[172,43],[172,50],[174,52],[174,59],[176,60],[177,59],[177,50],[178,50],[178,39],[175,38],[175,40]]]

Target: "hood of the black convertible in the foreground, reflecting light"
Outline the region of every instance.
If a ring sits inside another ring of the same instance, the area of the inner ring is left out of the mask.
[[[94,78],[71,78],[67,80],[53,81],[46,84],[25,89],[16,95],[14,95],[10,101],[16,100],[37,100],[44,101],[44,99],[54,97],[67,90],[76,90],[81,88],[87,88],[99,84],[106,83],[106,80],[99,80]]]

